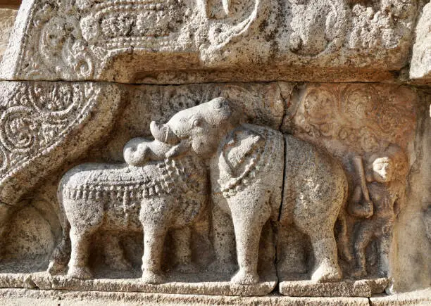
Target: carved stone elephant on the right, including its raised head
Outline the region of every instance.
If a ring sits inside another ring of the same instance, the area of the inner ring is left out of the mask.
[[[190,108],[152,132],[158,141],[170,139],[177,153],[193,151],[208,160],[213,202],[232,217],[235,228],[239,271],[232,281],[258,282],[259,240],[270,218],[294,224],[310,237],[311,279],[339,280],[334,225],[347,193],[342,166],[306,141],[241,123],[236,113],[219,129],[211,125]]]

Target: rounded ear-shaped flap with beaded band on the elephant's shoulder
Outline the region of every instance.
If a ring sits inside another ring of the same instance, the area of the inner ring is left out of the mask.
[[[254,173],[264,148],[265,137],[258,132],[242,128],[232,133],[220,155],[220,170],[227,179],[222,184],[222,191],[244,183],[244,179]]]

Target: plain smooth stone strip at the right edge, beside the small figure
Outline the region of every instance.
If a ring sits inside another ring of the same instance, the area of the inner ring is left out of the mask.
[[[430,95],[423,95],[418,109],[418,125],[411,154],[416,157],[408,175],[406,191],[408,205],[394,227],[397,241],[392,256],[389,292],[405,292],[427,288],[431,276],[431,239],[427,232],[427,217],[431,208],[431,114]]]

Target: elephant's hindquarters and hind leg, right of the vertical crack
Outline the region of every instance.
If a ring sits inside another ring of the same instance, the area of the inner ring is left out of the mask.
[[[311,240],[313,281],[338,281],[334,226],[347,198],[346,174],[326,151],[285,135],[285,183],[280,224],[294,226]]]

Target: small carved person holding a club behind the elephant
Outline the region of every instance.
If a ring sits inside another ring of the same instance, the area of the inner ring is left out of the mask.
[[[381,154],[373,154],[366,165],[366,192],[373,205],[370,214],[364,214],[359,204],[361,194],[354,193],[349,202],[351,215],[361,218],[354,234],[354,254],[356,257],[355,276],[366,276],[366,248],[377,241],[380,254],[380,274],[387,274],[388,255],[392,241],[392,227],[396,216],[404,205],[406,178],[406,155],[397,146],[389,146]],[[362,196],[363,197],[363,196]]]

